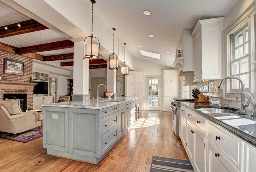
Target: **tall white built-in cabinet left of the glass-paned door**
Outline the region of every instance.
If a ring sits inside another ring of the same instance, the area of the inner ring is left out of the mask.
[[[140,99],[135,100],[139,104],[140,110],[143,110],[143,72],[129,71],[130,96],[139,96]]]

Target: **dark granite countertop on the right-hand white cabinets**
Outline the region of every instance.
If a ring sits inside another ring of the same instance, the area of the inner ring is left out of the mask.
[[[251,116],[251,111],[247,110],[246,115],[228,113],[210,113],[200,108],[213,107],[205,103],[180,102],[185,107],[204,116],[206,119],[217,123],[226,130],[230,131],[242,140],[256,146],[256,117]],[[222,106],[224,107],[224,106]],[[224,107],[225,108],[225,107]],[[232,108],[232,107],[231,107]],[[238,109],[238,108],[236,108]]]

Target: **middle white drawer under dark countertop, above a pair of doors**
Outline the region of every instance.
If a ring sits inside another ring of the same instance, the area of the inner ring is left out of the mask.
[[[188,110],[188,119],[201,131],[205,132],[205,119],[201,115]]]

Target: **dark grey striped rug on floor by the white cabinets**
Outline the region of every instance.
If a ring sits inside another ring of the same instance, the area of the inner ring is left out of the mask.
[[[150,172],[165,172],[165,171],[194,171],[189,160],[166,158],[161,156],[152,157]]]

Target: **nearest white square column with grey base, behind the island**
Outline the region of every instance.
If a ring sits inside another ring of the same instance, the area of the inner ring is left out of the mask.
[[[72,101],[89,100],[89,59],[83,59],[83,41],[74,42],[73,79]]]

